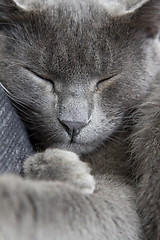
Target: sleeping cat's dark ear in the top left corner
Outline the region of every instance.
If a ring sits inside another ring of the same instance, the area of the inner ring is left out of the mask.
[[[20,20],[25,10],[14,0],[0,0],[0,25]]]

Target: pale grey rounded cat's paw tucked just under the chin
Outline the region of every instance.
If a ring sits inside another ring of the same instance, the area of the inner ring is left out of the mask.
[[[88,164],[70,151],[47,149],[29,157],[24,163],[24,175],[31,179],[64,181],[85,194],[93,193],[94,177]]]

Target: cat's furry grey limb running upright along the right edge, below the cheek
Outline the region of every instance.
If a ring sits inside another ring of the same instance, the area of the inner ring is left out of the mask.
[[[132,136],[138,208],[148,240],[160,239],[160,85],[140,106]]]

